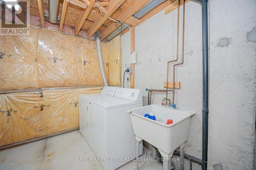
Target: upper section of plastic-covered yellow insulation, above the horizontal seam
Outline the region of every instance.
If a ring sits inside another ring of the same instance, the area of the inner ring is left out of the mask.
[[[0,90],[103,84],[95,41],[30,28],[30,36],[1,36]],[[106,43],[102,57],[107,76]]]

